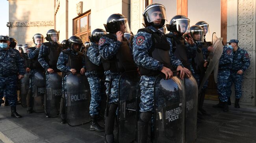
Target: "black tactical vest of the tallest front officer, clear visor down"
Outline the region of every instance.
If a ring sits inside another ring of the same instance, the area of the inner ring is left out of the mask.
[[[167,42],[166,36],[161,34],[160,32],[153,32],[151,29],[148,28],[139,29],[138,32],[141,31],[150,33],[152,35],[152,47],[150,48],[150,52],[148,53],[148,55],[158,60],[160,63],[163,64],[164,67],[173,70],[169,56],[170,44]],[[141,75],[146,76],[154,76],[161,73],[160,71],[149,70],[141,66],[139,66],[139,71]]]

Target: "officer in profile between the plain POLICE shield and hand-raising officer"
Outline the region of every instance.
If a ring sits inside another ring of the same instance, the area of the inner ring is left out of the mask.
[[[97,123],[97,116],[99,115],[100,101],[101,101],[101,89],[102,84],[100,79],[104,75],[101,56],[98,49],[98,41],[103,35],[106,35],[106,31],[103,29],[95,29],[89,39],[91,41],[90,47],[85,52],[85,75],[89,81],[91,90],[91,103],[90,103],[90,116],[91,126],[90,130],[103,132],[104,128],[100,127]]]

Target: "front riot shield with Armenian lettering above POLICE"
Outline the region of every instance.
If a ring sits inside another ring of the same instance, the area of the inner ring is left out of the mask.
[[[173,72],[173,75],[176,75]],[[154,83],[154,129],[156,143],[183,143],[185,87],[177,76],[165,80],[158,75]]]

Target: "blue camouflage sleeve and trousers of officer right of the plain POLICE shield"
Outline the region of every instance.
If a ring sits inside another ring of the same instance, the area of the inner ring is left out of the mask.
[[[91,46],[87,49],[86,56],[88,56],[89,60],[95,65],[101,64],[101,56],[96,43],[91,42]],[[98,115],[98,110],[100,108],[102,95],[102,85],[100,83],[100,79],[102,78],[102,74],[98,73],[97,71],[90,71],[85,72],[85,75],[87,76],[91,90],[90,115],[95,116]]]

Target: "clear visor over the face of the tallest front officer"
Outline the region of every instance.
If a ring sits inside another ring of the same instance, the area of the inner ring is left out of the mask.
[[[156,4],[148,7],[148,10],[145,10],[145,16],[148,20],[148,22],[156,22],[156,24],[159,22],[161,24],[161,20],[167,20],[166,14],[165,14],[165,8],[163,5]]]

